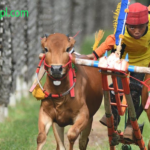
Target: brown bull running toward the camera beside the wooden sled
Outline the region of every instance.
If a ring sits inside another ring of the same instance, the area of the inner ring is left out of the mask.
[[[60,127],[72,125],[67,133],[69,150],[73,150],[74,142],[80,133],[79,148],[86,150],[93,115],[102,101],[101,74],[97,68],[75,65],[77,70],[76,84],[73,87],[75,95],[70,96],[68,93],[70,89],[69,51],[74,43],[73,38],[60,33],[51,34],[42,39],[42,47],[47,51],[45,53],[47,77],[44,90],[46,93],[51,93],[51,97],[47,95],[47,98],[41,101],[37,150],[42,149],[51,126],[57,141],[57,150],[65,150],[63,138],[55,123]],[[58,85],[55,85],[54,81],[59,79],[61,83],[59,81]],[[64,94],[66,91],[67,94]]]

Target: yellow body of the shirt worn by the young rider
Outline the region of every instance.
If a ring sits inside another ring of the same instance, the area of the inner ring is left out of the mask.
[[[147,33],[140,39],[134,39],[125,29],[122,43],[126,45],[122,58],[125,58],[128,53],[130,65],[148,66],[150,63],[150,15]]]

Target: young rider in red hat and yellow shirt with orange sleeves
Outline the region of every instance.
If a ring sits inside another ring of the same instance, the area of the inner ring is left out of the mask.
[[[148,14],[149,13],[149,14]],[[115,35],[109,35],[106,40],[95,50],[92,54],[87,55],[89,59],[101,57],[107,50],[115,51]],[[125,58],[126,54],[129,55],[129,64],[135,66],[148,67],[150,62],[150,6],[140,3],[133,3],[129,6],[129,12],[126,20],[125,34],[122,40],[121,58]],[[145,74],[131,73],[131,76],[138,80],[144,79]],[[111,84],[110,87],[113,85]],[[118,79],[118,87],[122,88],[121,80]],[[142,84],[130,78],[130,92],[134,103],[137,119],[142,113],[142,106],[140,106],[140,96],[142,92]],[[115,102],[115,95],[110,91],[111,101]],[[122,97],[122,96],[121,96]],[[116,106],[112,106],[112,113],[114,116],[114,125],[118,126],[120,116]],[[106,117],[100,120],[104,125]],[[130,131],[131,124],[128,120],[125,131]],[[125,134],[126,132],[124,132]]]

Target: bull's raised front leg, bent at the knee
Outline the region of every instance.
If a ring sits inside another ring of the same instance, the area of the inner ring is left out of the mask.
[[[83,109],[84,110],[84,109]],[[86,111],[85,111],[86,112]],[[73,150],[73,145],[81,131],[87,126],[88,115],[86,113],[79,114],[74,125],[68,131],[69,150]]]

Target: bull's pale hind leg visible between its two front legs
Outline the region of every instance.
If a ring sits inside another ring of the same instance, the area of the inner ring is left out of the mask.
[[[56,150],[65,150],[64,147],[64,128],[59,127],[56,123],[53,123],[53,132],[57,142]]]

